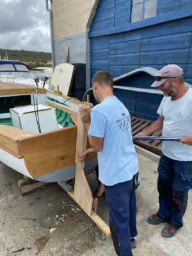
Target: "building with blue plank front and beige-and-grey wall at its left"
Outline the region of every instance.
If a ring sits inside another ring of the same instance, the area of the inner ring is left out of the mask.
[[[68,47],[69,63],[86,64],[86,89],[99,70],[108,71],[115,85],[134,87],[114,90],[132,116],[157,119],[163,95],[143,92],[154,81],[154,68],[175,63],[192,84],[191,0],[57,0],[51,10],[54,64],[63,63]],[[152,72],[116,79],[145,67]]]

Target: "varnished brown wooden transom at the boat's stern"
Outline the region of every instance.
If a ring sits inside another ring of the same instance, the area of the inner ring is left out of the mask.
[[[35,134],[18,140],[32,177],[75,164],[77,126]]]

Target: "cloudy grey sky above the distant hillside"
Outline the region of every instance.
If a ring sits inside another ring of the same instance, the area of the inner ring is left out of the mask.
[[[45,0],[0,0],[0,48],[51,52]]]

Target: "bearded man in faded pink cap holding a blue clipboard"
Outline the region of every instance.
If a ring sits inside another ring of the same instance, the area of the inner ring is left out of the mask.
[[[162,127],[163,137],[188,134],[179,141],[182,143],[163,141],[157,180],[159,210],[147,219],[153,225],[168,222],[161,234],[173,237],[183,226],[188,191],[192,188],[192,89],[184,84],[182,68],[174,64],[162,68],[155,79],[152,87],[158,87],[164,95],[157,110],[159,118],[136,136],[150,136]]]

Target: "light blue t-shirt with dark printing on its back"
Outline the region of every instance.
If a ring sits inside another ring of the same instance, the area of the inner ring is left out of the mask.
[[[115,96],[105,98],[91,112],[88,134],[104,138],[98,152],[99,180],[106,186],[131,180],[138,172],[138,158],[131,134],[131,116]]]

